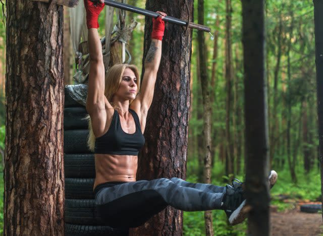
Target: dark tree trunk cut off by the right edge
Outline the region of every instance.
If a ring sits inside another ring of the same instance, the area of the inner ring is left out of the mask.
[[[317,83],[317,114],[318,114],[318,139],[319,163],[321,169],[321,193],[323,193],[323,1],[314,0],[315,24],[315,58],[316,58],[316,83]],[[323,196],[323,194],[322,194]],[[323,202],[323,198],[321,200]],[[323,213],[322,213],[323,217]]]

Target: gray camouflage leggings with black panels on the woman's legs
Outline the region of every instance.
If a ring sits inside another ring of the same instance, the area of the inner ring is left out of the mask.
[[[226,193],[225,187],[178,178],[106,184],[95,189],[96,206],[101,217],[115,227],[139,226],[168,205],[183,211],[221,209]]]

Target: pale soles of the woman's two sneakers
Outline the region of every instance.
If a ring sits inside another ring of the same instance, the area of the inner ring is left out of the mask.
[[[273,188],[273,186],[276,184],[278,179],[278,174],[275,170],[271,170],[270,175],[268,176],[268,182],[270,185],[270,188]],[[247,218],[247,211],[244,211],[244,207],[246,206],[246,200],[244,200],[240,206],[234,211],[232,212],[231,216],[229,217],[229,223],[231,225],[236,225],[241,223],[242,221],[245,220],[245,218]]]

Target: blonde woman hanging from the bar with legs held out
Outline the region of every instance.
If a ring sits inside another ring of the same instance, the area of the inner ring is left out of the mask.
[[[231,224],[246,214],[242,183],[219,187],[178,178],[136,181],[138,152],[145,140],[146,116],[152,102],[161,57],[166,14],[153,19],[151,45],[140,77],[133,65],[113,66],[104,82],[97,18],[104,4],[84,0],[90,72],[86,109],[90,116],[89,147],[95,153],[94,194],[98,212],[113,227],[136,227],[171,205],[184,211],[225,210]],[[268,180],[274,185],[275,171]]]

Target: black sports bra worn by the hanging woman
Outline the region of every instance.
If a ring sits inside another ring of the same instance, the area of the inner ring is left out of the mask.
[[[137,156],[138,152],[145,143],[145,138],[141,132],[139,117],[137,113],[129,109],[136,124],[136,132],[128,134],[123,131],[120,124],[120,117],[115,110],[112,122],[107,132],[95,139],[94,153],[96,154],[114,154],[114,155],[132,155]]]

